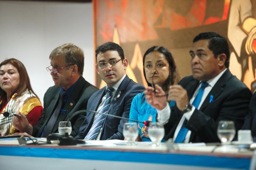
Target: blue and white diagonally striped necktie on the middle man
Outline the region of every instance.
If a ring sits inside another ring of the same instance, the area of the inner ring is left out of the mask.
[[[106,100],[103,104],[103,107],[100,111],[100,113],[107,113],[109,110],[110,106],[110,101],[111,101],[111,92],[114,91],[113,87],[108,87],[107,88],[107,97]],[[91,129],[89,130],[88,134],[85,136],[85,140],[95,140],[97,138],[97,135],[99,134],[100,128],[103,125],[103,122],[105,120],[105,115],[103,114],[97,114],[94,118],[94,122],[92,124]]]

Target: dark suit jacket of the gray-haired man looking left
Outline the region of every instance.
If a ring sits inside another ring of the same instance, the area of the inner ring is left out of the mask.
[[[52,116],[54,109],[57,105],[57,101],[59,99],[61,87],[52,86],[50,87],[45,95],[44,95],[44,111],[38,120],[36,126],[33,127],[32,136],[40,137],[42,134],[42,130],[44,129],[45,125],[49,121],[50,117]],[[87,82],[82,76],[79,78],[79,81],[75,85],[71,96],[67,100],[64,109],[66,110],[65,114],[60,114],[58,117],[56,124],[52,130],[52,133],[58,132],[59,122],[60,121],[67,121],[72,114],[76,111],[86,109],[87,102],[89,97],[97,91],[98,88]],[[73,103],[73,104],[70,104]],[[80,125],[84,120],[85,114],[80,114],[75,116],[70,120],[72,124],[72,132],[70,135],[75,136],[79,130]]]

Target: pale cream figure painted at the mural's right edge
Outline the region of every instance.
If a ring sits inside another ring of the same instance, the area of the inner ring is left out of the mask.
[[[233,46],[230,56],[231,72],[253,92],[256,89],[255,7],[256,0],[232,0],[228,21],[228,39]]]

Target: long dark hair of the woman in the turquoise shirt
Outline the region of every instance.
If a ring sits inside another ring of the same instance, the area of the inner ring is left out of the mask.
[[[169,63],[169,76],[163,85],[164,91],[167,91],[169,86],[171,86],[173,84],[177,84],[179,81],[179,73],[177,71],[176,64],[174,62],[174,58],[172,56],[172,53],[167,48],[165,48],[163,46],[152,46],[151,48],[149,48],[143,56],[143,74],[144,74],[144,78],[146,79],[146,81],[147,81],[147,78],[146,78],[146,73],[145,73],[145,68],[144,68],[145,58],[146,58],[147,54],[149,54],[153,51],[158,51],[158,52],[164,54],[166,60]],[[151,86],[151,84],[148,81],[147,81],[147,85]]]

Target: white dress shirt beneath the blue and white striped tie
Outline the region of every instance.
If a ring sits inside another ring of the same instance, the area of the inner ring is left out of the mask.
[[[115,83],[114,86],[112,86],[114,88],[114,91],[111,92],[111,100],[110,100],[111,102],[112,102],[112,100],[113,100],[113,98],[115,96],[115,93],[117,92],[118,87],[120,86],[120,84],[124,80],[125,76],[126,76],[126,74],[117,83]],[[105,96],[102,97],[101,103],[100,103],[100,105],[99,105],[99,107],[97,109],[97,112],[101,111],[101,109],[102,109],[102,107],[104,105],[104,102],[105,102],[105,100],[107,98],[107,88],[108,88],[108,86],[106,85],[106,87],[105,87],[106,94],[105,94]],[[95,116],[96,116],[96,114],[95,114]],[[94,116],[94,119],[95,119],[95,116]],[[99,130],[99,134],[98,134],[96,140],[100,140],[101,133],[102,133],[102,127]]]

